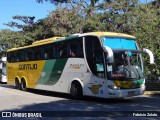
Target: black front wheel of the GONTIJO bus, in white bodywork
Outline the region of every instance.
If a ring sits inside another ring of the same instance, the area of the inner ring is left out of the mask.
[[[82,86],[79,82],[75,81],[71,84],[70,93],[72,98],[74,99],[82,99],[83,97],[83,90]]]

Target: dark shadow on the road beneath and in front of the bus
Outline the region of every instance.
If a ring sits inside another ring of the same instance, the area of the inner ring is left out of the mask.
[[[7,87],[14,89],[14,87],[1,85],[1,87]],[[41,113],[43,117],[55,117],[55,119],[65,120],[71,119],[106,119],[114,117],[122,117],[125,119],[132,117],[135,112],[154,112],[159,111],[160,102],[159,96],[147,96],[132,97],[125,99],[101,99],[94,97],[85,97],[83,100],[73,100],[70,95],[60,94],[55,92],[48,92],[42,90],[29,89],[30,93],[40,94],[50,97],[66,98],[64,100],[51,101],[48,103],[34,103],[30,105],[22,105],[20,109],[6,109],[4,111],[13,111],[25,113]],[[24,98],[22,98],[23,100]],[[3,111],[3,112],[4,112]],[[160,113],[160,112],[159,112]],[[82,118],[84,117],[84,118]],[[43,120],[43,118],[39,118]],[[44,118],[45,119],[45,118]],[[148,119],[148,118],[146,118]],[[157,119],[157,118],[155,118]],[[154,120],[154,119],[153,119]]]

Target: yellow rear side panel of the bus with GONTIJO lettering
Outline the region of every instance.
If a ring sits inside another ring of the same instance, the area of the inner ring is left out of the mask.
[[[45,61],[7,63],[8,84],[15,85],[15,78],[24,78],[28,88],[35,88]]]

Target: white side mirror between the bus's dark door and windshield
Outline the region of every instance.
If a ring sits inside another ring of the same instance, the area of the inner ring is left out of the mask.
[[[114,63],[114,56],[113,56],[113,51],[110,47],[104,46],[103,47],[104,51],[108,53],[108,62],[110,64]]]

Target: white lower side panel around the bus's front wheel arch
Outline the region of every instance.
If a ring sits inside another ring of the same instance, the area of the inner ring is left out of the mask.
[[[53,91],[70,93],[72,82],[76,80],[82,85],[83,95],[106,97],[106,80],[98,78],[87,69],[83,58],[69,58],[59,81]]]

